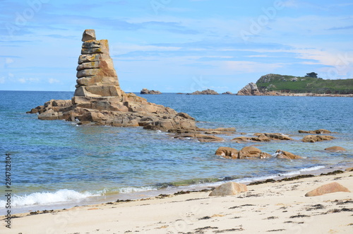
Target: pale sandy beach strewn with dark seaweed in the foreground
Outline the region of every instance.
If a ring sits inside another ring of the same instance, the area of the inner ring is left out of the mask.
[[[0,233],[352,233],[353,194],[305,197],[338,182],[353,191],[353,172],[248,185],[248,192],[160,195],[71,209],[20,213]]]

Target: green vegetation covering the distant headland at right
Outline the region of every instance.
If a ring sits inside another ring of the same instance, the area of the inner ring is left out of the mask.
[[[258,79],[256,86],[263,93],[270,91],[281,93],[353,93],[353,78],[324,80],[323,78],[318,78],[317,75],[314,72],[302,77],[267,74]]]

